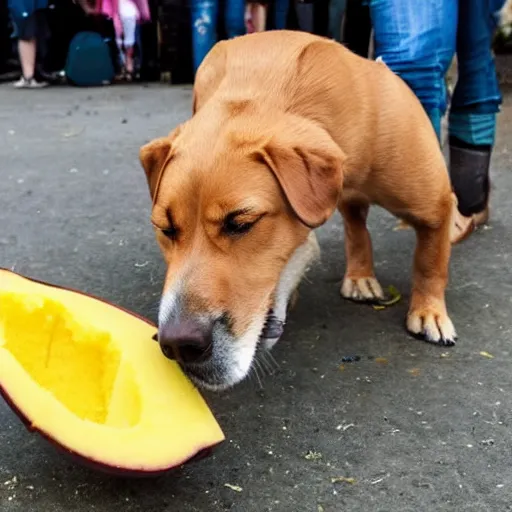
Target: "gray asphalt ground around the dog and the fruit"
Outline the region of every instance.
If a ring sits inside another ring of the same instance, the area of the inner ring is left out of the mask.
[[[189,106],[188,88],[2,87],[0,266],[154,319],[164,266],[137,152]],[[158,479],[112,478],[63,458],[0,403],[0,510],[512,510],[511,133],[506,96],[492,225],[453,253],[456,347],[404,332],[414,238],[386,213],[371,218],[377,273],[404,300],[374,311],[339,298],[335,219],[319,231],[323,261],[273,352],[275,374],[207,395],[227,436],[215,456]],[[361,360],[341,370],[347,355]],[[331,482],[340,476],[355,482]]]

